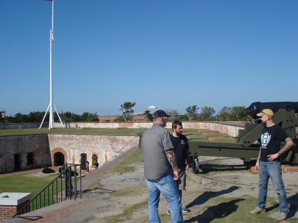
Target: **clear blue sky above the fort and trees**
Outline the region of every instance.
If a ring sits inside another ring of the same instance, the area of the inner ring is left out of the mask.
[[[298,101],[297,0],[55,0],[58,111]],[[0,0],[0,109],[49,105],[52,2]]]

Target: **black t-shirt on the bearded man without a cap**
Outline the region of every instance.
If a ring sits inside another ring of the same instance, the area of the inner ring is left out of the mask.
[[[185,135],[174,137],[171,135],[171,142],[174,146],[175,157],[179,169],[185,168],[186,150],[189,149],[188,141]]]

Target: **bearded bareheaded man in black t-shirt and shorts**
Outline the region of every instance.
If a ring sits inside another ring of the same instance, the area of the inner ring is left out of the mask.
[[[173,121],[172,130],[173,133],[170,135],[171,142],[174,147],[175,157],[177,160],[179,180],[176,181],[177,189],[182,200],[182,189],[185,190],[186,186],[186,173],[185,170],[189,168],[189,145],[185,135],[182,135],[182,122]],[[181,189],[179,189],[179,186]],[[182,201],[181,201],[182,204]],[[181,205],[181,210],[183,213],[190,212],[186,206]],[[167,214],[170,215],[170,209],[167,208]]]

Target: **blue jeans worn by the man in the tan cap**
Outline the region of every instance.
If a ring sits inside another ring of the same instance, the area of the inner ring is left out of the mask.
[[[287,215],[289,212],[289,206],[284,182],[282,179],[282,168],[280,161],[260,161],[259,198],[257,207],[261,210],[265,209],[269,177],[271,178],[275,192],[278,194],[280,212]]]

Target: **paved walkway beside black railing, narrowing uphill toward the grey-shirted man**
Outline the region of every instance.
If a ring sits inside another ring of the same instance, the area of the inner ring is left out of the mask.
[[[125,160],[137,149],[139,149],[139,145],[132,147],[130,150],[117,156],[109,163],[106,163],[105,165],[84,176],[82,178],[82,199],[76,199],[76,201],[74,201],[74,199],[63,201],[46,208],[42,208],[30,213],[23,214],[21,216],[17,216],[9,220],[2,221],[1,223],[25,223],[33,221],[39,223],[81,222],[78,220],[77,212],[82,211],[82,209],[94,204],[98,199],[98,197],[96,197],[97,195],[102,195],[111,192],[107,189],[91,192],[87,189],[88,185],[96,183],[107,172],[116,167],[120,162]],[[85,211],[87,215],[88,209],[86,208]],[[82,216],[80,215],[79,217]]]

